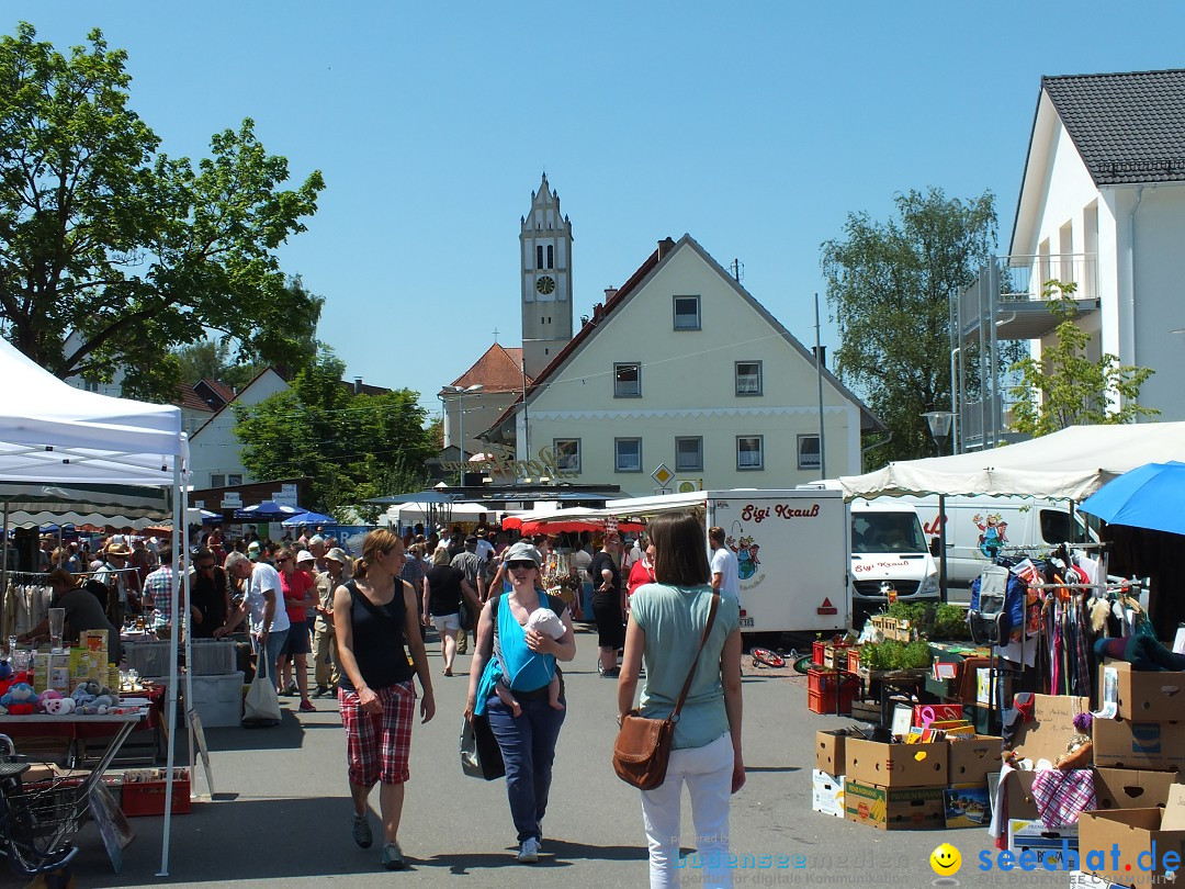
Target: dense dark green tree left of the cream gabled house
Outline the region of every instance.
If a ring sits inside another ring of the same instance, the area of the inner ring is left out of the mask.
[[[344,372],[345,363],[322,348],[286,391],[236,407],[235,431],[252,477],[307,475],[314,503],[302,506],[331,513],[350,506],[373,520],[379,510],[364,501],[421,487],[434,452],[416,392],[354,395]]]

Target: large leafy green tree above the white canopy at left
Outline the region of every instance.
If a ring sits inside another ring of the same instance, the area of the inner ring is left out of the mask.
[[[283,190],[288,161],[244,120],[197,168],[158,151],[128,108],[127,53],[97,28],[69,56],[21,23],[0,38],[0,327],[59,377],[172,398],[172,348],[211,331],[237,359],[299,353],[321,301],[276,258],[305,230],[319,172]]]

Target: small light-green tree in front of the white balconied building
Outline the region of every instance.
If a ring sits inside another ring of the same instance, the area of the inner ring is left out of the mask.
[[[1155,371],[1121,365],[1113,354],[1098,360],[1087,357],[1091,337],[1074,321],[1077,289],[1072,282],[1056,280],[1042,288],[1050,313],[1059,319],[1057,341],[1042,350],[1040,360],[1030,356],[1012,365],[1020,377],[1010,390],[1017,399],[1012,405],[1012,431],[1036,439],[1068,426],[1130,423],[1160,412],[1138,401],[1140,388]]]

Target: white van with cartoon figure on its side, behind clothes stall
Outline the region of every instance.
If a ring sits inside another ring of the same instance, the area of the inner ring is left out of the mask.
[[[912,504],[922,519],[922,530],[937,546],[939,497],[883,497],[879,501]],[[947,589],[950,601],[966,602],[971,582],[1000,551],[1010,546],[1049,550],[1071,539],[1097,541],[1080,512],[1071,525],[1070,506],[1064,500],[1040,497],[948,497]],[[935,549],[936,551],[936,549]]]

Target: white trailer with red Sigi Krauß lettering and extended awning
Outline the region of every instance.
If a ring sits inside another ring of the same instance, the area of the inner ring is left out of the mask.
[[[833,633],[851,619],[848,510],[839,491],[696,491],[628,500],[606,509],[653,518],[699,510],[724,529],[739,563],[745,633]]]

